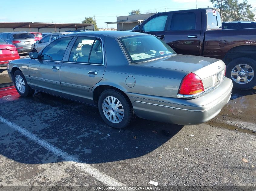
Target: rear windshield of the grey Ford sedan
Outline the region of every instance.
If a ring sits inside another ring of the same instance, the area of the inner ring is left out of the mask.
[[[145,62],[176,54],[164,41],[153,35],[119,38],[131,63]]]

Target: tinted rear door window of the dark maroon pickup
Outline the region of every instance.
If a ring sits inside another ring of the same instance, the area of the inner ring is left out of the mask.
[[[171,30],[194,30],[196,16],[194,13],[174,13],[171,18]]]

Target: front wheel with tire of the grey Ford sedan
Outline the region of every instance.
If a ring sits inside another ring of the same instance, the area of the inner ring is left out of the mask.
[[[20,70],[14,72],[13,79],[15,88],[21,96],[32,96],[35,93],[35,90],[28,86],[27,80]]]

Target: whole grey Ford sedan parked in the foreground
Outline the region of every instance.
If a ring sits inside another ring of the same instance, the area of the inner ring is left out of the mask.
[[[8,64],[21,96],[37,90],[98,107],[114,128],[128,126],[135,115],[180,125],[204,123],[231,97],[223,61],[178,55],[153,35],[73,33],[29,56]]]

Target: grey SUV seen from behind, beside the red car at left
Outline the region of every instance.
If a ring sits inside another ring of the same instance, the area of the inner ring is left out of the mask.
[[[36,41],[35,36],[28,32],[1,33],[0,38],[16,46],[18,53],[30,52]]]

